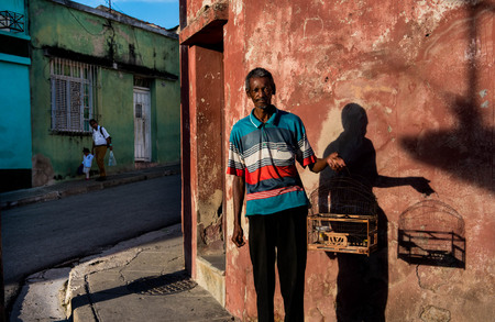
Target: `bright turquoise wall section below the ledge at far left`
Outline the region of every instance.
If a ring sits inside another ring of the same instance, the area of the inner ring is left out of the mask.
[[[31,169],[29,60],[0,54],[0,169]]]

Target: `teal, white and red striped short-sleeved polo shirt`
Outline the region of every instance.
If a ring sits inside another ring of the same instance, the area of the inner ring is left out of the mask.
[[[275,109],[262,123],[253,109],[234,124],[227,173],[245,179],[246,215],[308,204],[296,160],[304,167],[317,160],[299,116]]]

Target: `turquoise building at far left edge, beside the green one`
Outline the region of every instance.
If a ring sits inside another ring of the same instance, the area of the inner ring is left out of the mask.
[[[30,35],[24,1],[0,4],[0,192],[31,187]]]

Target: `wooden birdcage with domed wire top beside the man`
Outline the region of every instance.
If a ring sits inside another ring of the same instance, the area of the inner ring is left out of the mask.
[[[364,179],[332,178],[309,199],[308,249],[370,255],[377,248],[377,203]]]

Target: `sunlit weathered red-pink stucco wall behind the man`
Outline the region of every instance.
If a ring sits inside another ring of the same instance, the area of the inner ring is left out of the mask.
[[[188,19],[212,2],[188,0]],[[366,111],[378,174],[398,182],[374,188],[388,220],[387,321],[495,315],[494,12],[495,1],[229,1],[227,135],[252,108],[243,79],[257,66],[273,73],[274,103],[302,119],[319,156],[342,132],[345,104]],[[308,192],[318,187],[318,175],[301,169],[301,177]],[[415,190],[405,179],[411,177],[429,180],[436,193]],[[252,268],[248,247],[230,242],[229,179],[224,192],[226,307],[250,321],[256,315]],[[400,215],[427,200],[448,207],[464,223],[465,268],[397,258]],[[336,321],[338,269],[337,259],[309,252],[307,321]],[[276,310],[283,317],[278,292]]]

